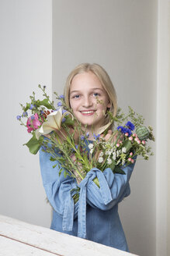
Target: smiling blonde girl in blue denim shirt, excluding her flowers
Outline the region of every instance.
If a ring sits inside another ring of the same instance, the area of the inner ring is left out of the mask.
[[[116,116],[116,92],[106,71],[97,64],[81,64],[68,76],[64,89],[66,104],[72,108],[82,126],[86,126],[89,140],[93,133],[103,133],[110,127],[106,111]],[[108,140],[112,134],[104,137]],[[101,134],[103,137],[103,134]],[[129,180],[133,165],[123,168],[122,174],[104,172],[94,168],[81,183],[70,176],[59,176],[53,168],[50,155],[40,151],[43,186],[53,207],[51,229],[79,236],[110,247],[128,251],[127,241],[118,214],[118,204],[130,194]],[[92,181],[99,180],[99,187]],[[79,187],[79,200],[73,201],[74,190]]]

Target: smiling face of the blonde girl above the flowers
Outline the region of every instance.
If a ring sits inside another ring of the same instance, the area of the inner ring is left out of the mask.
[[[95,132],[103,125],[109,97],[94,73],[80,73],[73,78],[69,99],[75,117],[87,125],[88,131]]]

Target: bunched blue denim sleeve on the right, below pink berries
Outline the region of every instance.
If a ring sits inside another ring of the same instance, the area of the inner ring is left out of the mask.
[[[92,169],[91,175],[88,174],[87,202],[92,207],[101,210],[109,210],[124,197],[130,194],[130,176],[134,169],[134,164],[122,168],[125,174],[113,173],[110,168],[101,172],[99,169]],[[99,186],[93,182],[94,178],[99,180]]]

